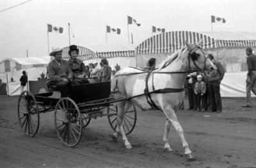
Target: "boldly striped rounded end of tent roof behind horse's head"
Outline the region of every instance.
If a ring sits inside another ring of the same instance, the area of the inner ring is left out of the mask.
[[[137,54],[173,53],[186,46],[185,42],[196,43],[203,40],[203,49],[216,47],[214,38],[192,31],[171,31],[157,34],[136,47]]]

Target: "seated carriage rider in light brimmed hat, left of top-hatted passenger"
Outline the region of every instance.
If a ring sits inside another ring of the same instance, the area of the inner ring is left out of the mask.
[[[60,88],[61,97],[67,97],[72,81],[72,71],[68,62],[62,59],[62,52],[63,50],[57,48],[50,53],[50,56],[54,56],[54,60],[47,67],[49,79],[46,84],[48,88],[51,88],[52,85],[57,86]]]

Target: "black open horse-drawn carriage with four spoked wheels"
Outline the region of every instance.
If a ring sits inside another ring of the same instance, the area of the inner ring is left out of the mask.
[[[57,135],[65,146],[74,147],[79,144],[83,128],[91,119],[108,116],[108,121],[116,129],[118,107],[111,96],[111,82],[99,82],[71,86],[70,95],[60,98],[54,96],[56,91],[33,95],[24,91],[19,96],[18,116],[22,131],[34,137],[40,125],[40,114],[54,112],[54,125]],[[136,125],[136,109],[134,106],[124,116],[125,134],[130,134]]]

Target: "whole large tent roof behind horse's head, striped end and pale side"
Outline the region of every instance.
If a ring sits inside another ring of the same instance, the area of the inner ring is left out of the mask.
[[[228,31],[192,32],[170,31],[156,34],[136,47],[137,54],[173,53],[186,46],[186,41],[196,43],[203,40],[203,49],[219,47],[255,47],[256,33],[234,33]]]

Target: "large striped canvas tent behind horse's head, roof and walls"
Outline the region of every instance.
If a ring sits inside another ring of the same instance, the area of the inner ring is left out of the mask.
[[[186,41],[196,43],[201,39],[202,49],[219,59],[227,72],[232,72],[232,75],[226,73],[221,82],[221,95],[245,96],[246,72],[243,72],[247,70],[245,48],[252,47],[256,50],[256,33],[171,31],[156,34],[136,47],[137,65],[145,67],[150,57],[156,57],[158,65],[167,56],[185,47]],[[243,83],[237,84],[237,77],[240,77],[239,80]],[[236,84],[239,85],[239,89]]]

